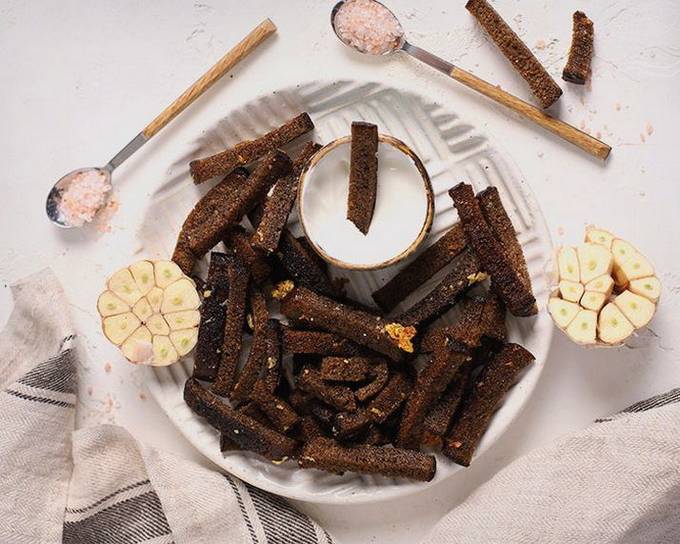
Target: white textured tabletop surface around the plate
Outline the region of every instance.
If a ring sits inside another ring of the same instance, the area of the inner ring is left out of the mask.
[[[588,223],[609,227],[654,262],[664,291],[653,332],[633,349],[583,350],[554,335],[550,360],[524,414],[456,486],[436,486],[375,508],[305,506],[343,544],[412,543],[517,455],[680,385],[680,5],[673,0],[495,2],[556,76],[570,40],[571,12],[581,8],[595,21],[592,88],[560,81],[565,94],[558,107],[564,119],[613,145],[603,166],[415,61],[347,51],[328,26],[331,4],[3,0],[0,277],[8,282],[51,265],[63,282],[89,361],[80,369],[80,425],[116,421],[153,445],[198,458],[146,398],[138,370],[119,364],[94,309],[107,273],[134,258],[147,197],[166,179],[169,165],[186,142],[236,105],[301,81],[381,81],[451,104],[515,159],[556,243],[579,241]],[[462,2],[389,5],[415,44],[528,98],[524,83]],[[278,36],[116,173],[121,209],[110,232],[63,232],[47,223],[43,201],[54,180],[77,166],[107,161],[265,16],[279,26]],[[0,294],[4,319],[8,290]]]

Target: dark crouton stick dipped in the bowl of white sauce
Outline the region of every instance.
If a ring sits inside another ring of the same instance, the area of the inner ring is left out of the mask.
[[[347,219],[368,234],[378,190],[378,127],[372,123],[352,123],[350,144]]]

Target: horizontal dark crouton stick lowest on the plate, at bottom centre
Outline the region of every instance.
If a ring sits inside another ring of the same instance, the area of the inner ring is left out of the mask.
[[[376,446],[347,448],[322,437],[305,444],[299,464],[302,468],[316,468],[340,474],[351,471],[425,482],[434,478],[437,468],[432,455]]]

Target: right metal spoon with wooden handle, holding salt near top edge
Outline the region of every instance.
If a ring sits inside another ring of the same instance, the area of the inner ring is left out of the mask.
[[[370,53],[369,51],[364,51],[354,46],[353,44],[349,43],[348,41],[344,40],[343,37],[338,32],[338,29],[336,28],[335,20],[338,15],[338,12],[346,2],[351,1],[353,0],[341,0],[333,7],[333,10],[331,11],[331,26],[333,27],[333,32],[335,32],[335,35],[338,37],[338,39],[348,47],[351,47],[352,49],[359,51],[360,53],[365,53],[369,55],[373,54]],[[392,13],[390,9],[388,9],[385,5],[378,2],[377,0],[371,1],[381,6],[387,13],[389,13],[389,15],[394,17],[394,20],[397,23],[397,25],[399,25],[400,28],[403,28],[401,27],[401,24],[399,23],[397,17],[394,15],[394,13]],[[581,149],[595,157],[598,157],[600,159],[606,159],[607,156],[609,155],[609,152],[611,151],[610,146],[598,140],[597,138],[590,136],[590,134],[587,134],[577,129],[576,127],[573,127],[565,123],[564,121],[555,119],[554,117],[551,117],[547,113],[541,111],[540,109],[529,104],[528,102],[525,102],[524,100],[521,100],[520,98],[517,98],[516,96],[502,90],[500,87],[492,85],[491,83],[484,81],[483,79],[475,76],[474,74],[471,74],[470,72],[467,72],[462,68],[454,66],[453,64],[445,61],[444,59],[441,59],[436,55],[433,55],[432,53],[425,51],[424,49],[421,49],[420,47],[410,44],[408,41],[406,41],[406,37],[403,31],[401,37],[399,39],[395,39],[390,49],[382,51],[377,54],[391,55],[396,51],[404,51],[405,53],[408,53],[409,55],[418,59],[419,61],[424,62],[425,64],[431,66],[432,68],[435,68],[436,70],[439,70],[440,72],[455,79],[456,81],[462,83],[463,85],[469,87],[470,89],[473,89],[478,93],[483,94],[484,96],[490,98],[494,102],[497,102],[499,104],[502,104],[503,106],[506,106],[507,108],[510,108],[511,110],[519,113],[525,119],[529,119],[530,121],[536,123],[537,125],[543,127],[546,130],[549,130],[550,132],[556,134],[560,138],[568,142],[571,142],[572,144],[580,147]]]

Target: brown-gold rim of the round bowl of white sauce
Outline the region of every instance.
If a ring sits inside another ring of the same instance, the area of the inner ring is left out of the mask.
[[[413,164],[415,164],[416,169],[420,173],[420,178],[423,182],[423,187],[425,189],[425,195],[427,198],[427,212],[425,214],[425,220],[423,222],[423,225],[421,226],[418,236],[409,244],[409,246],[406,249],[404,249],[398,255],[390,257],[389,259],[379,263],[375,264],[348,263],[341,259],[337,259],[332,255],[329,255],[316,243],[314,238],[310,236],[310,233],[307,229],[304,209],[302,206],[304,187],[305,182],[307,181],[308,174],[311,172],[311,170],[331,151],[333,151],[335,148],[341,145],[351,143],[351,140],[352,136],[347,135],[341,136],[340,138],[336,138],[335,140],[328,142],[314,155],[312,155],[310,160],[307,161],[307,164],[302,169],[302,172],[300,173],[300,178],[298,180],[298,193],[296,197],[298,215],[300,217],[300,226],[302,227],[302,231],[304,232],[304,235],[309,241],[309,245],[312,247],[312,249],[322,259],[329,262],[333,266],[337,266],[338,268],[343,268],[345,270],[380,270],[381,268],[386,268],[388,266],[397,264],[398,262],[412,255],[418,249],[418,247],[420,247],[420,244],[422,244],[429,235],[430,230],[432,228],[432,221],[434,219],[434,191],[432,189],[432,182],[430,181],[430,175],[428,174],[427,169],[423,164],[423,161],[420,160],[420,157],[418,157],[418,155],[416,154],[415,151],[413,151],[413,149],[411,149],[405,142],[399,140],[398,138],[395,138],[394,136],[379,133],[378,134],[379,142],[391,145],[392,147],[397,149],[397,151],[400,151],[403,154],[405,154],[408,158],[411,159]]]

